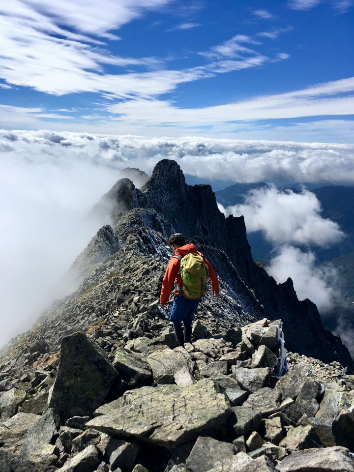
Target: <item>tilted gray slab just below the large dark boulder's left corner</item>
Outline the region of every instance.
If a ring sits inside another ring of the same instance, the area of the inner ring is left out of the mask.
[[[20,451],[22,459],[30,459],[33,454],[52,454],[50,447],[53,435],[59,427],[59,416],[52,408],[42,414],[40,419],[29,428]]]

